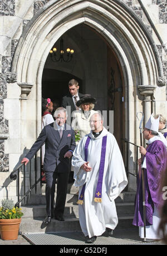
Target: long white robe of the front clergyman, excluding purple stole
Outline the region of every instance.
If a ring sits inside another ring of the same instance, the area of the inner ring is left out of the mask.
[[[95,202],[95,192],[99,177],[99,165],[101,158],[102,137],[107,135],[104,176],[102,182],[102,202]],[[80,167],[85,163],[85,142],[89,136],[90,143],[87,148],[89,162],[92,170],[86,172]],[[115,137],[103,128],[101,134],[94,138],[87,134],[78,143],[72,157],[72,166],[75,179],[74,186],[80,187],[86,183],[84,203],[79,205],[79,218],[82,232],[85,236],[99,236],[106,228],[115,229],[118,218],[115,199],[127,185],[127,177],[119,146]]]

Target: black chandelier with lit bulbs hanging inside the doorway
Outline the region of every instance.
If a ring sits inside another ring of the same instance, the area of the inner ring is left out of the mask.
[[[70,50],[70,48],[67,48],[66,54],[63,50],[63,38],[60,40],[60,51],[57,52],[57,48],[53,47],[52,50],[50,50],[50,56],[51,60],[53,62],[58,62],[58,61],[65,61],[65,62],[70,62],[72,60],[72,56],[74,54],[74,50]]]

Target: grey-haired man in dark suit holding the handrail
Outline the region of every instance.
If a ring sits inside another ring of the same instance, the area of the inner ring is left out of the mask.
[[[65,209],[68,176],[71,171],[72,152],[76,147],[75,133],[71,126],[66,124],[67,112],[65,108],[57,108],[54,115],[55,122],[46,125],[37,141],[33,144],[22,163],[27,163],[35,156],[38,149],[45,143],[45,158],[43,170],[46,174],[46,211],[45,224],[51,223],[53,218],[53,201],[55,197],[55,183],[57,179],[57,196],[55,219],[63,221]]]

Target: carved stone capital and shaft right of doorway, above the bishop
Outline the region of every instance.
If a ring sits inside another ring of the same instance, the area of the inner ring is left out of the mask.
[[[137,88],[139,89],[140,94],[144,95],[144,116],[145,122],[147,122],[151,115],[151,104],[153,102],[151,96],[154,94],[156,85],[138,85]]]

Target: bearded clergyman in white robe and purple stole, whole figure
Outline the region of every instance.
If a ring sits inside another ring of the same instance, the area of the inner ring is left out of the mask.
[[[112,235],[118,219],[115,199],[127,185],[124,162],[115,137],[103,127],[102,115],[90,118],[91,132],[76,146],[72,156],[74,186],[79,189],[79,218],[86,243],[97,236]]]

